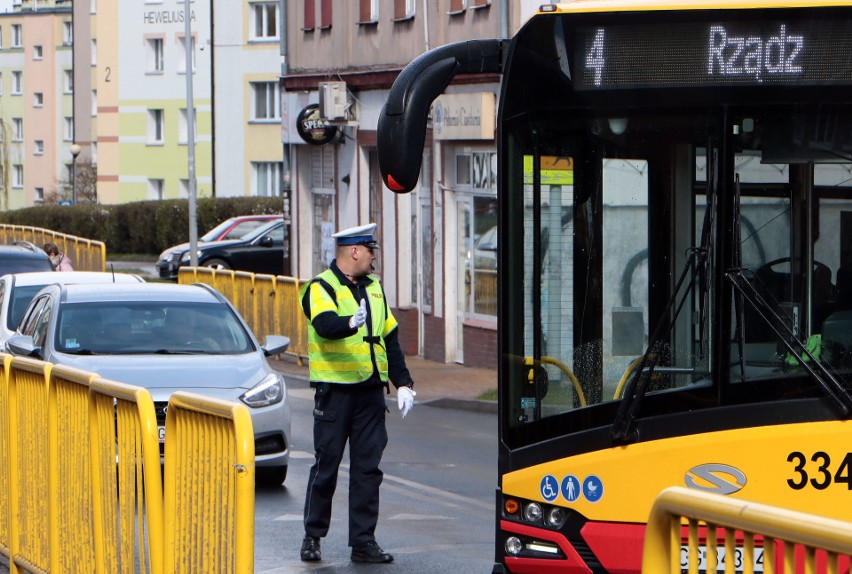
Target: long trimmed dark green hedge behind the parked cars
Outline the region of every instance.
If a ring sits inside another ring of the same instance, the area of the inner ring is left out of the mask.
[[[199,198],[198,235],[235,215],[280,214],[283,207],[280,197]],[[159,255],[167,247],[189,241],[189,201],[27,207],[0,213],[0,223],[103,241],[108,253]]]

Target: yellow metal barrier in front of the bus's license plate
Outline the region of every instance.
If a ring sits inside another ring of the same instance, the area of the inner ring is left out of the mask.
[[[688,551],[681,551],[684,523],[687,529]],[[717,571],[717,539],[724,538],[724,553],[734,556],[741,546],[742,565],[737,571],[754,572],[755,540],[762,540],[763,571],[794,572],[796,548],[804,558],[805,572],[816,572],[817,550],[825,552],[827,571],[840,571],[841,557],[852,556],[852,523],[785,510],[766,504],[737,500],[682,487],[664,490],[654,502],[648,518],[642,571],[648,574],[690,574],[699,571],[699,526],[706,526],[706,562],[700,570]],[[719,529],[724,529],[719,533]],[[738,542],[737,533],[741,533]],[[776,552],[776,543],[783,543],[783,552]],[[759,548],[759,547],[757,547]],[[778,557],[781,556],[779,562]],[[682,564],[687,557],[688,564]],[[844,558],[844,561],[846,558]],[[845,564],[848,568],[848,562]],[[734,560],[725,561],[725,572],[733,574]]]

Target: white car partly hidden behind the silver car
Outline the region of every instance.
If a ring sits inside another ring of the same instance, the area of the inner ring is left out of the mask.
[[[72,283],[143,283],[139,275],[97,271],[38,271],[10,273],[0,277],[0,351],[6,351],[6,341],[15,334],[24,311],[42,287]]]

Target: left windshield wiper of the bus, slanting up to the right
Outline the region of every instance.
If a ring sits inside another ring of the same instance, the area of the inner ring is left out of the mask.
[[[654,374],[654,369],[660,361],[660,358],[663,356],[663,353],[661,352],[662,349],[660,348],[660,336],[663,334],[663,328],[666,326],[666,319],[667,317],[671,317],[671,320],[668,322],[668,328],[666,329],[666,331],[671,332],[675,326],[678,315],[680,315],[681,309],[683,309],[687,298],[692,293],[696,285],[698,285],[699,305],[699,347],[702,350],[704,349],[704,323],[706,319],[707,299],[709,298],[710,291],[710,273],[708,266],[711,264],[712,260],[710,255],[711,247],[713,245],[713,225],[714,215],[716,212],[716,173],[718,168],[716,160],[717,155],[715,148],[713,147],[713,142],[709,141],[707,143],[707,205],[704,211],[704,220],[701,224],[701,245],[690,249],[683,272],[681,272],[677,284],[672,291],[672,295],[669,298],[669,302],[666,305],[665,311],[662,315],[660,315],[660,319],[654,327],[654,333],[648,341],[648,349],[645,351],[645,354],[642,355],[641,361],[639,361],[639,364],[633,371],[630,382],[624,390],[622,395],[623,399],[621,401],[621,405],[618,407],[618,412],[615,415],[615,420],[612,424],[612,431],[610,433],[612,440],[616,443],[627,443],[636,440],[636,417],[642,407],[642,399],[645,396],[645,393],[648,392],[648,385]],[[681,289],[686,282],[686,278],[693,267],[695,268],[695,272],[693,273],[692,280],[687,285],[680,301],[678,302],[678,295],[680,294]],[[677,304],[677,308],[674,311],[674,314],[672,314],[672,308],[675,304]]]

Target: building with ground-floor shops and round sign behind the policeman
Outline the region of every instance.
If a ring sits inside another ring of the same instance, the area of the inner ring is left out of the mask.
[[[405,351],[496,365],[496,75],[458,77],[432,109],[418,187],[384,187],[376,124],[393,80],[431,48],[506,38],[539,3],[287,2],[282,130],[293,174],[294,274],[333,257],[330,235],[378,223],[377,272]],[[321,105],[320,105],[321,104]],[[328,125],[316,127],[317,120]],[[310,142],[310,143],[308,143]]]

